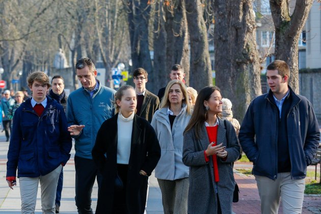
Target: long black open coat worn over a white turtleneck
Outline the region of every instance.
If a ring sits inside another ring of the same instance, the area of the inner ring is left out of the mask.
[[[110,213],[113,210],[117,173],[117,118],[118,114],[102,123],[92,150],[93,160],[103,175],[96,213]],[[144,170],[148,176],[151,175],[160,157],[161,148],[153,127],[148,121],[135,115],[128,163],[126,213],[144,213],[148,177],[140,175],[139,171]]]

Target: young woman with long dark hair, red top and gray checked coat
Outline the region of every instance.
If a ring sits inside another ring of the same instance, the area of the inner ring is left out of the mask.
[[[218,117],[221,112],[220,89],[203,88],[183,135],[182,159],[190,167],[188,213],[232,213],[232,163],[240,151],[232,124]]]

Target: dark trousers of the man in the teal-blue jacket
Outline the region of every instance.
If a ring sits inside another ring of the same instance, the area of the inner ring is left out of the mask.
[[[97,177],[98,193],[102,181],[102,175],[92,159],[74,157],[76,182],[75,182],[75,201],[79,214],[93,213],[91,208],[91,193]]]

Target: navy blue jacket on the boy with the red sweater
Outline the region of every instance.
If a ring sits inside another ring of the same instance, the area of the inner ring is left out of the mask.
[[[8,150],[7,177],[39,177],[65,165],[72,147],[63,107],[47,96],[39,117],[31,99],[21,103],[13,116]]]

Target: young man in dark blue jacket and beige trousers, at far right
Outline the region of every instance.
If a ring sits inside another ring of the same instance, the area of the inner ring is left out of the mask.
[[[261,213],[301,213],[307,166],[320,140],[311,103],[288,86],[290,69],[276,60],[267,67],[270,91],[255,98],[238,139],[251,162]]]

